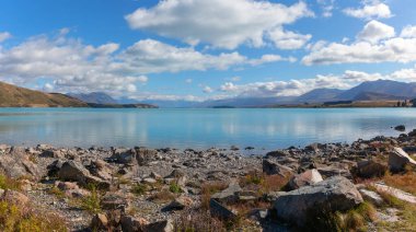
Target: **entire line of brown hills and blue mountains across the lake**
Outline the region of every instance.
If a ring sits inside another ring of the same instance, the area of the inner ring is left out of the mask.
[[[135,101],[106,93],[44,93],[0,82],[0,107],[268,107],[327,102],[404,101],[416,98],[416,83],[391,80],[367,81],[349,90],[315,89],[300,96],[232,97],[216,101]]]

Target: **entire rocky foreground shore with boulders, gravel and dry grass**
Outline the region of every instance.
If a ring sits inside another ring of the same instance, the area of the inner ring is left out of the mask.
[[[43,217],[54,219],[36,225],[46,231],[378,231],[409,222],[389,199],[416,204],[408,188],[382,183],[414,174],[416,130],[242,153],[2,144],[0,230]],[[24,210],[10,222],[12,206]]]

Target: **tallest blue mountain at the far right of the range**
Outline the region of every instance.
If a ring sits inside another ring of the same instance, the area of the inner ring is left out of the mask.
[[[339,100],[355,100],[360,93],[363,92],[414,98],[416,97],[416,83],[404,83],[390,80],[367,81],[362,82],[358,86],[345,91],[337,97]]]

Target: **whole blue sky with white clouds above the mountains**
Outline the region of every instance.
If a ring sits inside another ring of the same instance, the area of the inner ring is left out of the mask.
[[[206,101],[416,82],[414,0],[2,0],[0,81]]]

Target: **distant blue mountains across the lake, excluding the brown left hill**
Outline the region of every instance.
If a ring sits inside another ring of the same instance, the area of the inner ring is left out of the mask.
[[[349,89],[315,89],[300,96],[276,97],[232,97],[216,101],[162,101],[148,100],[135,101],[131,98],[115,100],[105,93],[93,92],[90,94],[69,94],[83,102],[96,104],[151,104],[164,108],[188,107],[263,107],[273,105],[316,104],[338,101],[404,101],[416,97],[416,83],[404,83],[391,80],[377,80],[362,82]]]

